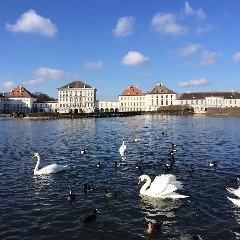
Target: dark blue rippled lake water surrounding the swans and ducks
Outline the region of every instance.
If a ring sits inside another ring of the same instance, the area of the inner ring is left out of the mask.
[[[226,181],[239,177],[240,118],[144,115],[127,118],[0,120],[0,239],[240,239],[240,208],[227,199]],[[126,156],[118,149],[125,139]],[[135,142],[134,139],[140,139]],[[177,144],[171,174],[183,184],[182,200],[139,196],[136,163],[154,179],[165,173],[171,142]],[[80,149],[87,153],[80,154]],[[41,165],[68,164],[69,170],[35,177]],[[216,160],[216,168],[208,163]],[[114,162],[122,166],[114,168]],[[100,162],[101,168],[96,164]],[[195,166],[189,174],[186,167]],[[95,188],[87,195],[83,184]],[[104,189],[115,191],[113,199]],[[69,190],[76,194],[71,204]],[[97,220],[83,218],[97,208]],[[163,221],[162,232],[149,238],[147,221]]]

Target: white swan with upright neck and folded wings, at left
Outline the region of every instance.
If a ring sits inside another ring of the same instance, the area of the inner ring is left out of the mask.
[[[37,164],[34,168],[34,175],[47,175],[52,173],[57,173],[66,170],[68,165],[57,165],[57,164],[51,164],[46,167],[43,167],[42,169],[38,169],[40,166],[40,155],[38,153],[34,153],[33,158],[37,158]]]

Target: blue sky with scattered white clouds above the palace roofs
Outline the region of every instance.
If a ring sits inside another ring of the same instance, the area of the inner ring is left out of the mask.
[[[240,1],[0,0],[0,92],[240,91]]]

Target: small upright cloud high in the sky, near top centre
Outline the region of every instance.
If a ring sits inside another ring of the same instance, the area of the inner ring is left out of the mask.
[[[133,33],[135,18],[121,17],[118,19],[116,27],[113,29],[115,37],[126,37]]]

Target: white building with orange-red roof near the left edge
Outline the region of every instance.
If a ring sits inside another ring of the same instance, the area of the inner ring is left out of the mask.
[[[35,96],[23,86],[18,86],[4,95],[3,113],[30,113]]]

